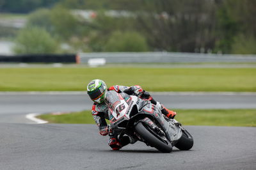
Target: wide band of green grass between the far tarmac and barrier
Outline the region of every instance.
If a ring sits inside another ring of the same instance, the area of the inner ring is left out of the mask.
[[[147,91],[256,91],[256,68],[0,68],[0,91],[85,91],[92,79]]]

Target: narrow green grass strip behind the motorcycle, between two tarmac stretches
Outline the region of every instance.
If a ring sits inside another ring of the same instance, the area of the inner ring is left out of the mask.
[[[177,109],[182,125],[256,127],[256,109]],[[94,123],[91,111],[38,116],[50,123]]]

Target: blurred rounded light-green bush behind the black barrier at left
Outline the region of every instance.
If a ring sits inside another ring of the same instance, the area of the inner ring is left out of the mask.
[[[16,54],[46,54],[58,52],[58,43],[45,29],[26,27],[20,31],[13,51]]]

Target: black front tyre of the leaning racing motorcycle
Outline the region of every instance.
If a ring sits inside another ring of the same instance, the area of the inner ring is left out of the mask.
[[[142,137],[150,146],[153,146],[164,153],[170,153],[172,151],[172,146],[158,139],[156,135],[152,134],[152,132],[143,125],[143,123],[139,122],[135,129],[140,137]]]

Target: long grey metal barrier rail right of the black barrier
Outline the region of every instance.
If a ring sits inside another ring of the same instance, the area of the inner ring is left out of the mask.
[[[250,63],[255,55],[201,54],[187,52],[86,52],[77,54],[79,63],[104,58],[106,63]]]

